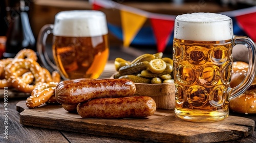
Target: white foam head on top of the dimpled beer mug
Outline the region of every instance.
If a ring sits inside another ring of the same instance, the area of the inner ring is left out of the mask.
[[[230,17],[216,13],[191,13],[175,19],[174,37],[195,41],[220,41],[232,38]]]

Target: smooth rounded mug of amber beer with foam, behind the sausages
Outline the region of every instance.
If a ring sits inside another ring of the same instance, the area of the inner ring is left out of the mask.
[[[47,53],[46,39],[53,34],[52,56]],[[109,58],[108,28],[100,11],[62,11],[54,25],[41,28],[37,51],[45,67],[57,69],[63,79],[97,79]]]

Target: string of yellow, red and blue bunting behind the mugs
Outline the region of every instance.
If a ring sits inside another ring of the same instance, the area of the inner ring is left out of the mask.
[[[164,52],[173,43],[174,21],[177,15],[157,14],[134,7],[125,6],[111,0],[90,0],[93,10],[118,9],[121,26],[108,22],[109,31],[123,41],[124,47],[130,44],[157,45],[158,52]],[[256,41],[256,6],[222,12],[232,18],[235,35],[244,35]],[[143,26],[150,19],[151,26]]]

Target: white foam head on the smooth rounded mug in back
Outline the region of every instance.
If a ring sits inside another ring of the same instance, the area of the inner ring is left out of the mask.
[[[62,11],[55,16],[55,36],[94,37],[105,34],[108,34],[108,27],[105,14],[101,11]]]

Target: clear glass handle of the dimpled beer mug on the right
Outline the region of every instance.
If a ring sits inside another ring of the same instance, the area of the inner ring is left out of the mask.
[[[249,61],[249,68],[247,71],[247,75],[245,76],[244,80],[236,87],[228,89],[230,93],[229,100],[232,100],[233,98],[239,96],[240,94],[244,93],[251,85],[251,83],[254,80],[255,76],[255,63],[256,63],[256,53],[255,53],[255,44],[254,42],[246,37],[246,36],[236,36],[234,35],[232,38],[232,44],[242,44],[247,47],[248,50],[248,61]]]

